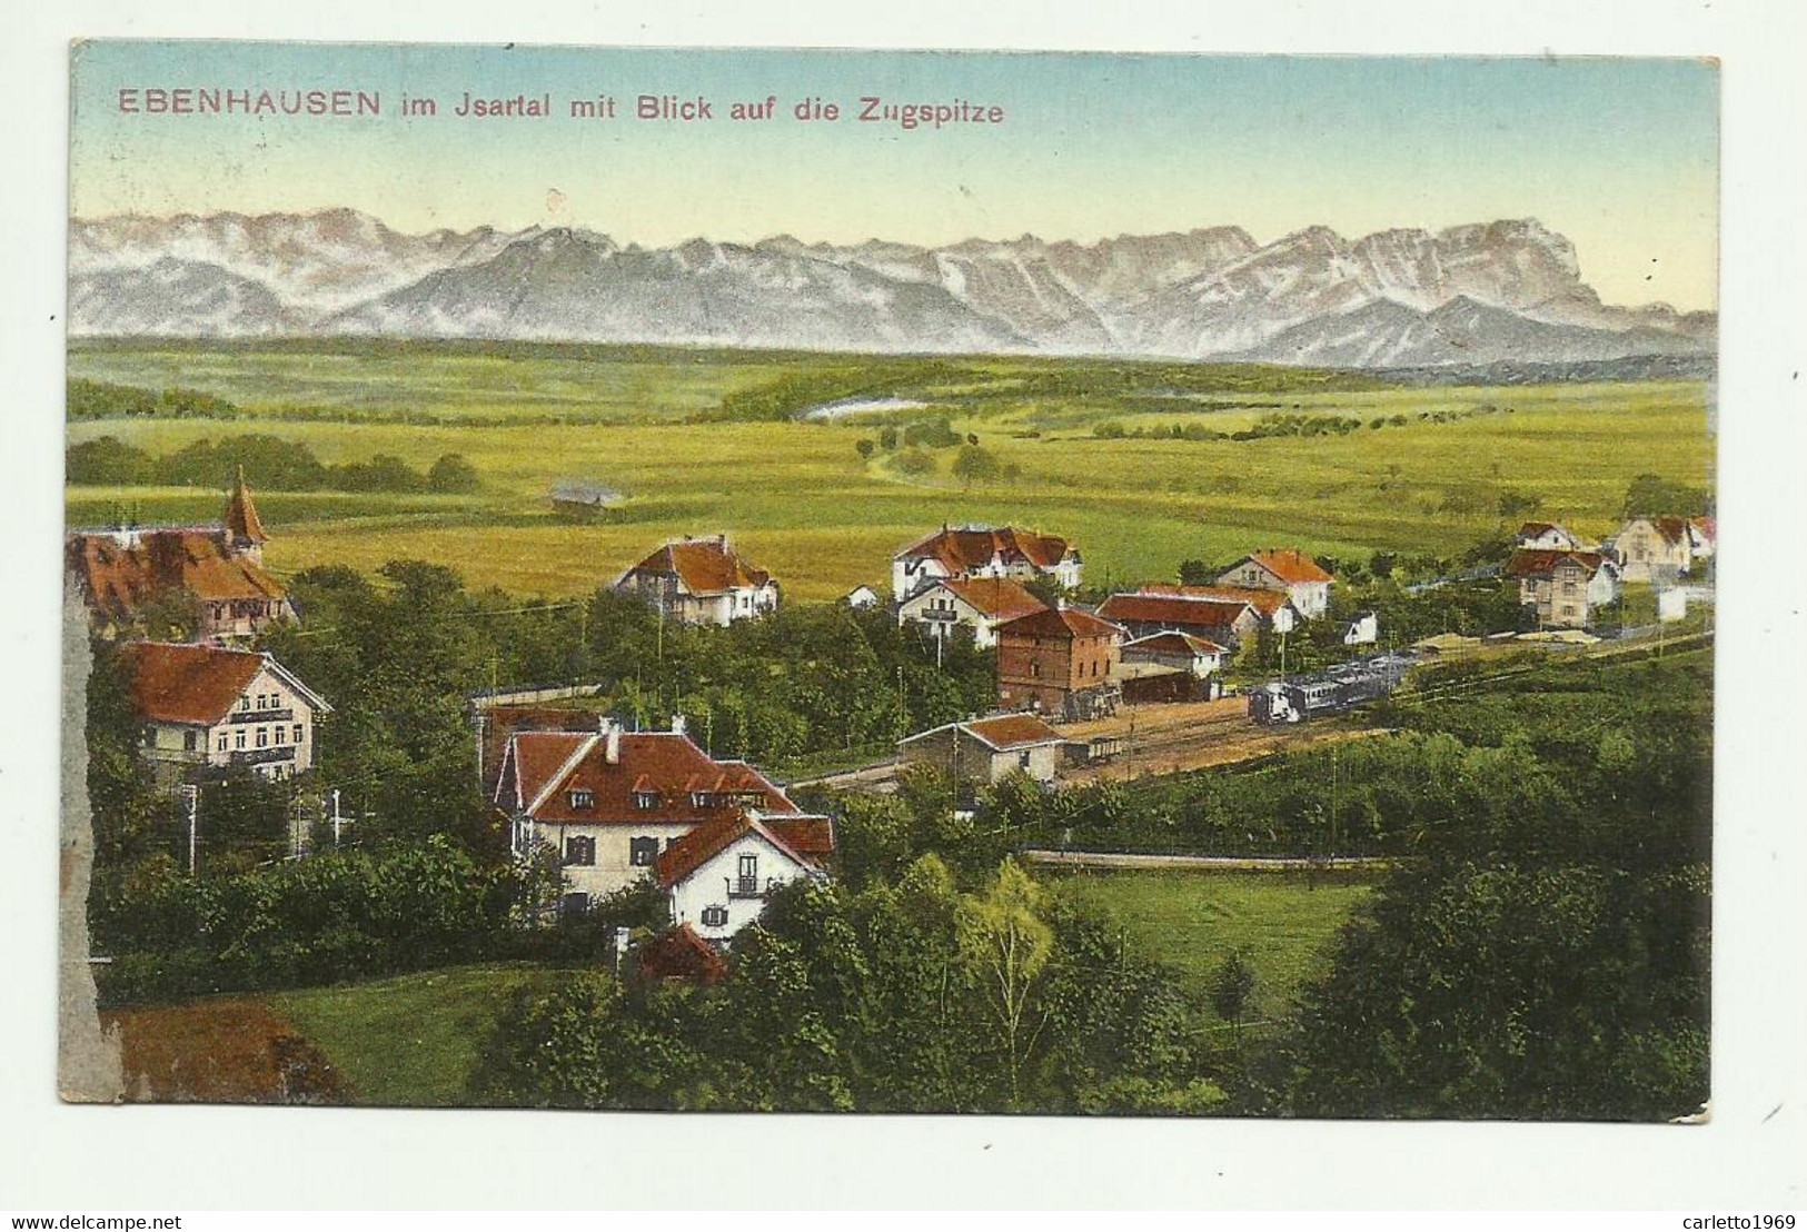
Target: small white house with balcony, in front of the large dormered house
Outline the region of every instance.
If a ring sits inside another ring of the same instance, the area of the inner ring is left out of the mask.
[[[835,851],[826,817],[768,817],[743,809],[690,831],[658,858],[672,923],[707,941],[725,941],[759,919],[766,896],[801,878],[828,880]]]

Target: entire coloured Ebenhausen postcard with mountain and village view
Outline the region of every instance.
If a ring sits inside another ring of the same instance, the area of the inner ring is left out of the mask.
[[[70,94],[63,1098],[1706,1116],[1715,63]]]

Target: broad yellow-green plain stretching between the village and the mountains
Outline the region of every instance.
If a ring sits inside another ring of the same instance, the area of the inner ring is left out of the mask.
[[[1377,390],[1335,388],[1328,376],[1314,387],[1312,374],[1272,370],[1285,388],[1258,396],[1250,383],[1259,374],[1236,370],[1225,376],[1232,388],[1156,397],[1131,390],[1147,381],[1137,365],[1072,361],[1084,379],[1066,388],[1050,383],[1059,361],[1048,359],[974,361],[958,385],[929,359],[916,381],[913,361],[871,361],[896,379],[866,394],[941,406],[1008,475],[961,484],[950,448],[932,450],[932,468],[920,475],[905,475],[884,450],[871,459],[855,450],[884,421],[923,412],[699,421],[735,390],[824,367],[857,370],[858,358],[517,350],[83,345],[70,352],[72,376],[204,388],[240,412],[78,421],[70,441],[112,435],[161,455],[260,432],[307,444],[325,462],[392,453],[423,470],[463,453],[484,481],[472,497],[260,495],[275,535],[269,564],[278,574],[325,562],[369,571],[417,556],[457,565],[477,585],[548,596],[611,582],[669,537],[714,531],[732,533],[793,600],[876,583],[898,546],[969,520],[1066,535],[1100,583],[1173,578],[1184,558],[1270,544],[1362,558],[1377,549],[1455,553],[1500,529],[1502,497],[1536,497],[1540,517],[1599,535],[1612,529],[1635,475],[1704,484],[1711,470],[1702,383]],[[1191,372],[1209,383],[1209,367]],[[1478,406],[1496,410],[1446,423],[1417,417]],[[1276,408],[1406,423],[1245,441],[1095,435],[1100,423],[1231,434]],[[410,423],[421,415],[435,421]],[[607,484],[629,502],[604,522],[560,522],[548,491],[562,479]],[[121,509],[139,522],[208,518],[217,506],[215,493],[190,490],[69,493],[74,524]]]

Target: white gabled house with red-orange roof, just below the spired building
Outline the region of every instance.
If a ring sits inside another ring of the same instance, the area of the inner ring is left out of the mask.
[[[313,768],[314,724],[332,706],[273,656],[132,641],[119,661],[159,779],[229,768],[291,779]]]

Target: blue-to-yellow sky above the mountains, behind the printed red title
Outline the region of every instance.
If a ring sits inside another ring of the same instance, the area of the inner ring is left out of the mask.
[[[123,89],[184,87],[363,90],[381,114],[121,112]],[[466,92],[549,94],[553,114],[461,119]],[[714,117],[634,119],[641,94],[707,98]],[[567,224],[663,246],[1231,224],[1269,242],[1534,217],[1608,303],[1717,305],[1718,70],[1697,60],[90,42],[70,96],[83,219],[351,206],[403,231]],[[571,117],[598,96],[616,119]],[[728,117],[770,96],[775,117]],[[862,96],[1003,123],[862,123]],[[842,117],[799,121],[804,99]]]

